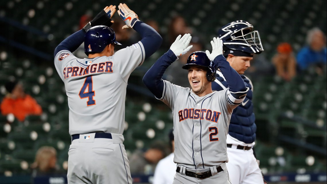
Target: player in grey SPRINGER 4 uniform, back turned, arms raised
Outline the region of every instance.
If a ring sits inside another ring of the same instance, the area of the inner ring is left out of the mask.
[[[108,18],[115,8],[104,9]],[[55,49],[55,66],[68,96],[72,136],[68,184],[132,183],[122,135],[127,82],[130,73],[160,47],[162,38],[126,4],[118,8],[126,23],[123,29],[134,28],[141,41],[114,53],[114,46],[120,45],[114,31],[107,26],[93,27],[95,21],[91,21]],[[72,52],[83,41],[88,58],[79,59]]]

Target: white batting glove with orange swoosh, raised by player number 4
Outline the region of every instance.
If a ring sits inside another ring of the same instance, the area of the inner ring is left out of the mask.
[[[128,8],[128,6],[124,4],[118,5],[118,14],[120,18],[122,18],[125,22],[125,26],[122,27],[122,29],[127,28],[133,28],[134,24],[139,20],[139,17],[136,15],[136,13]]]

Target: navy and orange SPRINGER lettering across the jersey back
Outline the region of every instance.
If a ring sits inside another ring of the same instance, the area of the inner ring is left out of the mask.
[[[112,62],[107,61],[98,64],[91,64],[86,68],[82,68],[78,66],[65,67],[63,69],[63,76],[65,76],[66,79],[69,77],[77,77],[77,76],[87,75],[89,73],[99,73],[99,72],[112,73]]]

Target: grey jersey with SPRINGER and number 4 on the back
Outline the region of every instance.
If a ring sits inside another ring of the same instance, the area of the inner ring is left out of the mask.
[[[55,66],[68,96],[70,135],[123,134],[128,78],[144,58],[141,42],[110,57],[79,59],[68,50],[57,53]]]

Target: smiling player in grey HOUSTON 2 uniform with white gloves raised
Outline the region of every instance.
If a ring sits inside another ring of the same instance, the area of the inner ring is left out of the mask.
[[[233,109],[243,102],[249,88],[223,57],[222,41],[211,41],[212,53],[193,52],[183,65],[190,88],[162,80],[165,69],[192,46],[190,34],[179,35],[170,49],[146,72],[143,82],[173,113],[177,163],[174,184],[231,183],[225,162],[226,135]],[[216,67],[224,73],[229,88],[212,91]]]

